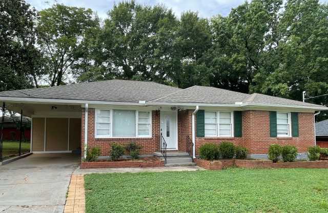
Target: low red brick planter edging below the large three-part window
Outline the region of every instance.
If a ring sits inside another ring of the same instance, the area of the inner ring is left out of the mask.
[[[136,167],[162,167],[163,160],[156,161],[103,161],[103,162],[81,162],[81,169],[98,168],[136,168]]]

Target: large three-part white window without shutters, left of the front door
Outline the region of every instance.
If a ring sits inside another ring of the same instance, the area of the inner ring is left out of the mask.
[[[151,137],[151,111],[96,109],[95,138]]]

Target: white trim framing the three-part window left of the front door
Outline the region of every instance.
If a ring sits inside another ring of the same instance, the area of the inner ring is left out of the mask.
[[[110,131],[109,131],[109,135],[97,135],[97,112],[99,110],[104,110],[104,111],[109,111],[109,116],[110,116]],[[95,123],[94,123],[94,138],[96,139],[101,139],[101,138],[105,138],[105,139],[115,139],[115,138],[133,138],[133,139],[137,139],[137,138],[152,138],[152,111],[149,111],[149,110],[136,110],[136,109],[131,109],[131,110],[135,110],[136,113],[135,113],[135,116],[136,116],[136,124],[135,124],[135,129],[136,129],[136,136],[134,137],[114,137],[112,136],[113,135],[113,110],[115,109],[95,109]],[[119,109],[116,109],[116,110],[119,110]],[[122,109],[122,110],[125,110],[125,109]],[[130,110],[130,109],[129,109]],[[150,119],[150,130],[149,130],[149,135],[138,135],[138,123],[139,123],[139,111],[141,112],[149,112],[149,119]]]

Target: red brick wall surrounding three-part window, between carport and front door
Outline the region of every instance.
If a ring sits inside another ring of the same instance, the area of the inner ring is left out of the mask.
[[[111,150],[111,144],[117,143],[127,145],[130,142],[136,142],[141,145],[140,154],[150,154],[158,150],[159,147],[159,135],[160,135],[160,113],[159,111],[152,111],[152,138],[95,138],[95,110],[89,108],[88,112],[88,147],[99,146],[101,148],[101,156],[109,156]],[[81,149],[84,152],[84,109],[82,112],[82,143]],[[84,153],[82,153],[84,155]],[[128,153],[126,153],[128,154]]]

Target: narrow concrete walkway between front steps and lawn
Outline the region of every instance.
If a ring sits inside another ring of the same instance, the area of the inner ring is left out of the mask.
[[[205,170],[199,166],[171,166],[153,168],[109,168],[109,169],[76,169],[74,175],[86,175],[90,173],[124,173],[124,172],[163,172],[163,171],[197,171]]]

